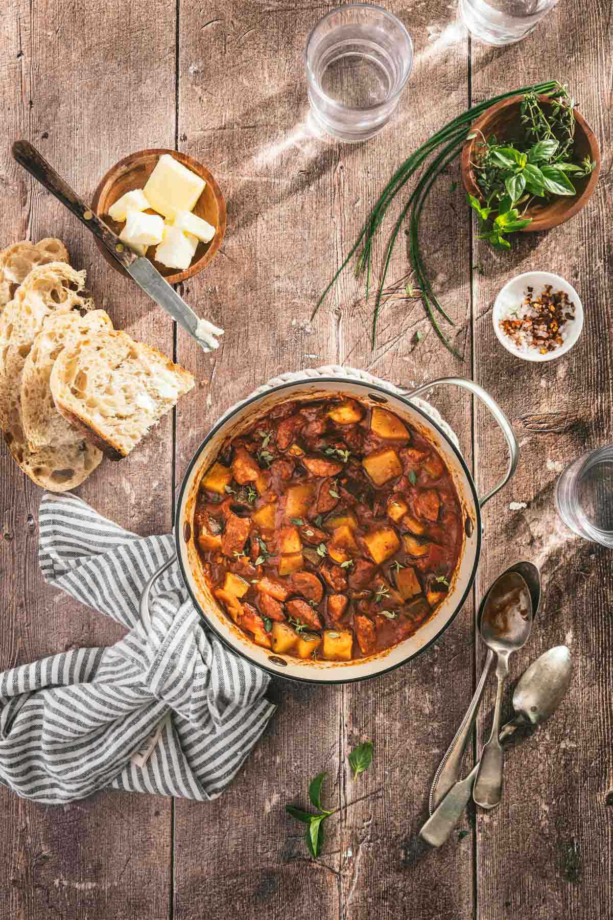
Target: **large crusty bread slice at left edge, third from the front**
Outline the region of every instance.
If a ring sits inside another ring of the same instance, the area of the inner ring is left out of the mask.
[[[85,439],[31,451],[23,430],[20,399],[23,367],[45,321],[58,314],[88,310],[85,271],[51,262],[28,272],[0,316],[0,425],[14,460],[43,489],[63,492],[80,486],[96,469],[102,454]]]

